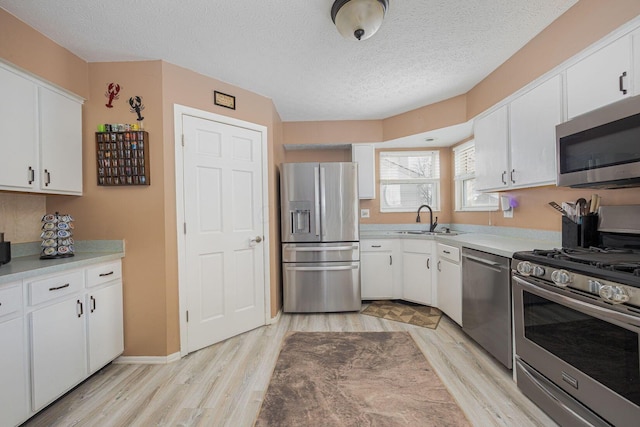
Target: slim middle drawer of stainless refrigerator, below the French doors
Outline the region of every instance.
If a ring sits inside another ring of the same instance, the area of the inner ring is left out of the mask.
[[[359,242],[286,243],[282,245],[283,262],[333,262],[360,260]]]

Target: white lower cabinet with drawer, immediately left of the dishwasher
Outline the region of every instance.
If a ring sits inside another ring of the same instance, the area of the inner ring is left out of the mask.
[[[438,243],[438,308],[462,326],[462,267],[460,249]]]

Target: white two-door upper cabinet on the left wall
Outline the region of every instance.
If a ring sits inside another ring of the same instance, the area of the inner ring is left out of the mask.
[[[0,62],[0,190],[82,194],[82,100]]]

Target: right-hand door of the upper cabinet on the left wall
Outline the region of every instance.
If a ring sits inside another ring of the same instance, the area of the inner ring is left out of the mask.
[[[40,188],[82,194],[82,105],[47,88],[40,102]]]

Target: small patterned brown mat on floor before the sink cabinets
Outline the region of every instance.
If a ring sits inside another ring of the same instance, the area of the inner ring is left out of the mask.
[[[442,312],[435,307],[400,301],[373,301],[361,313],[430,329],[437,328],[442,317]]]

